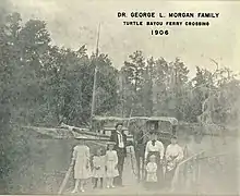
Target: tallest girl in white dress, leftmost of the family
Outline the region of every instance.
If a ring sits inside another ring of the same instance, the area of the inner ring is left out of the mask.
[[[84,192],[84,184],[92,176],[89,164],[89,148],[85,145],[83,138],[80,138],[80,144],[73,148],[72,164],[74,166],[75,187],[72,193]]]

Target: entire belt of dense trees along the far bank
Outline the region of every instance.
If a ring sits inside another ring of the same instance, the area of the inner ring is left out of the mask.
[[[170,115],[187,122],[235,124],[240,106],[240,82],[228,69],[212,73],[196,68],[190,79],[177,58],[129,56],[120,71],[107,54],[87,54],[51,45],[46,23],[12,13],[0,21],[1,179],[14,160],[26,160],[24,132],[15,125],[88,125],[94,70],[97,65],[96,110],[101,115]],[[26,136],[26,135],[25,135]],[[21,138],[21,139],[20,139]],[[21,143],[21,145],[16,145]],[[17,155],[17,156],[16,156]]]

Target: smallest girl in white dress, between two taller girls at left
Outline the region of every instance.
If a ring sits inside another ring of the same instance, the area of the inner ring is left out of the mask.
[[[105,177],[105,156],[103,156],[103,149],[97,149],[97,155],[93,157],[93,177],[94,188],[97,187],[97,182],[100,180],[100,187],[103,188]]]

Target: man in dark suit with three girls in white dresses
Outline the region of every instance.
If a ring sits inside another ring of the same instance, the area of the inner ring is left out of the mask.
[[[113,188],[122,186],[122,171],[124,158],[127,156],[127,135],[122,132],[122,124],[116,125],[116,132],[111,134],[107,143],[107,150],[99,148],[91,158],[89,148],[85,145],[85,139],[80,139],[77,146],[73,149],[71,166],[74,166],[75,186],[72,193],[84,192],[86,180],[93,177],[94,188],[100,187]],[[92,164],[91,164],[92,163]]]

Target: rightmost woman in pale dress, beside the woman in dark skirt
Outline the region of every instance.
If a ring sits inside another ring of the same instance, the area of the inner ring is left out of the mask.
[[[171,181],[175,175],[176,168],[182,159],[183,159],[183,149],[177,143],[177,137],[172,136],[171,144],[168,145],[166,149],[167,168],[166,168],[165,181],[166,181],[166,186],[168,188],[170,188],[171,186]]]

